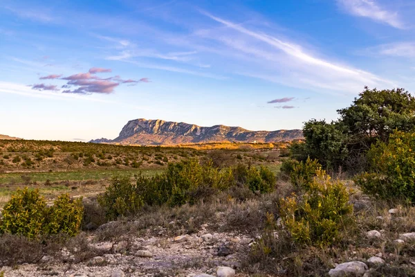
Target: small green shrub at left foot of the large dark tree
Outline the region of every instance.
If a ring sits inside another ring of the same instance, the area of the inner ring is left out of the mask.
[[[311,160],[310,158],[307,158],[305,162],[300,161],[299,163],[294,164],[290,175],[291,183],[297,189],[308,188],[313,182],[316,170],[319,170],[320,168],[320,163],[318,163],[317,160]]]

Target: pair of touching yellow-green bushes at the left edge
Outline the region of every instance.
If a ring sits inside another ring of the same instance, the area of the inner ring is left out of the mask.
[[[2,211],[1,233],[35,238],[39,235],[66,233],[75,235],[82,222],[81,199],[71,201],[61,195],[50,208],[38,190],[17,190]]]

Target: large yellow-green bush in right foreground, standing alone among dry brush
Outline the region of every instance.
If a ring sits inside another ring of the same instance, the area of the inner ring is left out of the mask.
[[[324,170],[317,170],[302,197],[281,200],[284,226],[300,244],[331,244],[345,224],[353,222],[349,191],[340,181],[330,181]]]

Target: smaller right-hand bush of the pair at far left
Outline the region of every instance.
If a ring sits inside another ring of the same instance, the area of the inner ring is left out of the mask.
[[[71,200],[68,194],[60,195],[48,209],[45,233],[76,235],[80,231],[83,215],[81,198]]]

